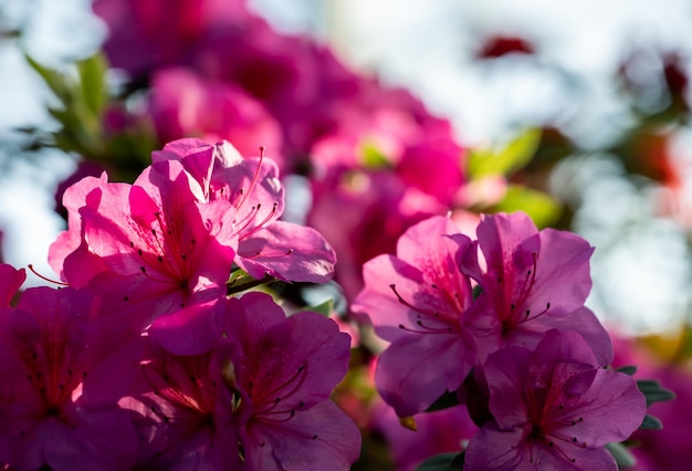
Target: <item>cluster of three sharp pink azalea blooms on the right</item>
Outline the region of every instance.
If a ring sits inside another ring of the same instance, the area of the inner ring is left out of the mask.
[[[486,216],[476,240],[444,217],[410,228],[366,263],[353,306],[390,342],[379,394],[400,417],[457,395],[480,427],[465,469],[616,470],[604,447],[640,427],[647,401],[608,368],[610,338],[584,306],[591,252],[521,212]]]

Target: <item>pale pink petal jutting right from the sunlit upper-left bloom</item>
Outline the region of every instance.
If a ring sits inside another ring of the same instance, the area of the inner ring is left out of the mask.
[[[238,247],[238,264],[255,279],[325,283],[334,274],[334,250],[316,230],[274,221]]]

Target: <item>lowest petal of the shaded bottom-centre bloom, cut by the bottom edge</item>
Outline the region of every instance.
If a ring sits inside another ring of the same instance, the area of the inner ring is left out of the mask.
[[[360,454],[358,428],[331,401],[298,411],[285,426],[252,425],[248,438],[250,469],[258,471],[347,471]]]

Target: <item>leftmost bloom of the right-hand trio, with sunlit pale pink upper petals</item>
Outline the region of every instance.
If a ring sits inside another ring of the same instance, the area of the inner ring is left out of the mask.
[[[427,219],[399,239],[397,257],[379,255],[364,266],[366,287],[352,308],[391,342],[375,380],[399,416],[457,390],[476,362],[471,283],[459,270],[471,240],[457,232],[448,218]]]

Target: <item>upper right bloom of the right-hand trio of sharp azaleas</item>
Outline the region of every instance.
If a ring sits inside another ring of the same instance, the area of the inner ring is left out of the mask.
[[[523,212],[486,216],[478,227],[483,254],[469,250],[462,271],[483,289],[480,302],[494,318],[481,359],[503,345],[533,348],[551,328],[577,331],[594,348],[601,366],[612,360],[610,337],[584,307],[591,289],[589,258],[594,249],[573,233],[538,232]]]

